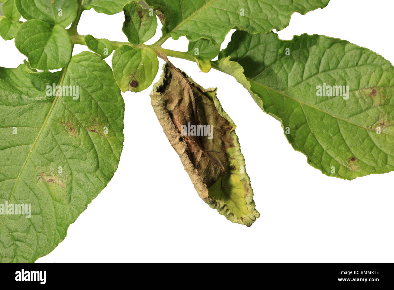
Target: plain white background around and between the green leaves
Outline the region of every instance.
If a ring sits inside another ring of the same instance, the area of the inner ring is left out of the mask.
[[[346,39],[394,63],[392,11],[391,0],[331,0],[325,9],[295,13],[279,36]],[[123,21],[121,13],[85,11],[78,32],[127,41]],[[158,30],[148,44],[159,37]],[[187,45],[182,37],[164,47],[186,51]],[[1,66],[22,63],[13,40],[1,39],[0,49]],[[76,45],[74,54],[84,50]],[[171,61],[205,88],[218,88],[237,124],[260,218],[250,228],[232,224],[199,198],[153,112],[150,87],[123,94],[125,147],[112,181],[37,262],[393,262],[394,172],[353,181],[327,177],[292,149],[280,123],[232,77]]]

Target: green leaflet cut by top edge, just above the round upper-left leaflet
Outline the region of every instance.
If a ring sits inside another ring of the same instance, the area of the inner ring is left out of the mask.
[[[15,0],[24,19],[40,19],[63,28],[76,18],[76,0]]]

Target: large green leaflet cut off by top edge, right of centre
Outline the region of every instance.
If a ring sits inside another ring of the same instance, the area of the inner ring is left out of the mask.
[[[190,41],[201,37],[214,44],[223,42],[232,28],[251,33],[281,30],[291,15],[327,6],[329,0],[145,0],[159,11],[164,22],[163,35],[173,39],[186,36]]]

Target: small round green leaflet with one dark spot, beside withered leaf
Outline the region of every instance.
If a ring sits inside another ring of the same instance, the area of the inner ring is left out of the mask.
[[[152,84],[159,61],[152,49],[134,49],[123,45],[113,54],[112,68],[122,92],[141,92]]]

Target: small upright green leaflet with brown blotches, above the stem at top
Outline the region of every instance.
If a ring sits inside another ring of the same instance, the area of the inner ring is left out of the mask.
[[[123,23],[123,33],[126,34],[130,43],[144,43],[151,39],[156,33],[156,15],[148,9],[133,1],[125,5],[125,22]]]

